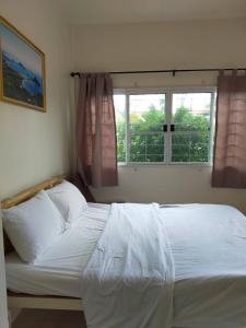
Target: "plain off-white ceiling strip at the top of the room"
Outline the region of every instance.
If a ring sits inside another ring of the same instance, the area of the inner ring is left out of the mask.
[[[246,0],[55,0],[72,24],[246,19]]]

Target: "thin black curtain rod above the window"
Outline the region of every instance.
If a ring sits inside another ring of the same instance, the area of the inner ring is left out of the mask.
[[[213,69],[187,69],[187,70],[155,70],[155,71],[119,71],[119,72],[109,72],[109,74],[149,74],[149,73],[172,73],[175,77],[176,72],[219,72],[223,71],[246,71],[246,68],[213,68]],[[72,78],[80,77],[80,72],[71,72],[70,75]]]

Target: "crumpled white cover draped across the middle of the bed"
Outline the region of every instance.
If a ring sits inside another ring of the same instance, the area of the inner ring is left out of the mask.
[[[87,327],[171,327],[174,276],[159,206],[114,203],[82,273]]]

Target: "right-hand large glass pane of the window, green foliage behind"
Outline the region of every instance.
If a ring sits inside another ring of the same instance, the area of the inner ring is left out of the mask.
[[[210,161],[210,108],[212,94],[173,94],[172,162]]]

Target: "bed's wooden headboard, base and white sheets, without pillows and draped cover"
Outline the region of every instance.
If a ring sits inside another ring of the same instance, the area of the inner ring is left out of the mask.
[[[33,191],[56,183],[46,181]],[[28,197],[25,194],[24,199]],[[20,195],[17,199],[24,200]],[[9,200],[9,204],[13,202]],[[9,253],[10,306],[81,311],[81,270],[105,229],[109,209],[107,204],[89,204],[81,220],[35,265]],[[163,206],[162,213],[175,263],[173,326],[244,327],[245,216],[234,208],[214,204]]]

